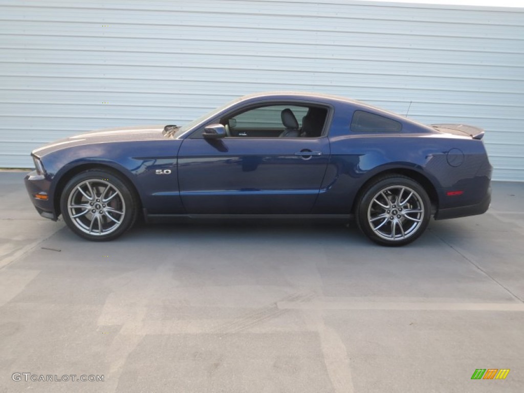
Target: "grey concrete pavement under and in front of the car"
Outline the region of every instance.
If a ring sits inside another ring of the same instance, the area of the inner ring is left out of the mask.
[[[385,248],[253,222],[91,243],[40,218],[22,179],[0,173],[2,392],[524,391],[524,184]],[[30,380],[72,374],[104,381]]]

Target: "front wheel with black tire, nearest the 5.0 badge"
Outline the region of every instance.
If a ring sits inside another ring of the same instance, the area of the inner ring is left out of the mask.
[[[91,241],[109,241],[133,226],[138,200],[122,175],[90,169],[65,185],[60,210],[75,234]]]

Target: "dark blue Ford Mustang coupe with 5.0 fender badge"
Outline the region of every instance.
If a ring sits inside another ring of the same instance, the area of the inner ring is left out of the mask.
[[[93,241],[139,215],[355,218],[374,242],[414,241],[431,215],[484,213],[482,129],[427,126],[361,102],[296,92],[241,97],[182,127],[125,127],[32,152],[25,183],[44,217]]]

